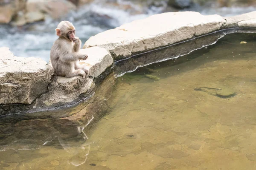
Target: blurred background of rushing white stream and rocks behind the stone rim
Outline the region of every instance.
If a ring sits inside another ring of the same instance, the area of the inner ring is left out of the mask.
[[[198,11],[227,17],[255,10],[256,0],[0,0],[0,47],[48,62],[61,20],[73,23],[83,45],[99,32],[152,14]]]

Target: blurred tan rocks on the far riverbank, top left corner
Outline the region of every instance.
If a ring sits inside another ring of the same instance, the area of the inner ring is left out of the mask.
[[[23,26],[26,23],[45,20],[47,16],[57,19],[77,6],[92,0],[4,0],[0,3],[0,23]],[[1,2],[1,1],[0,1]]]

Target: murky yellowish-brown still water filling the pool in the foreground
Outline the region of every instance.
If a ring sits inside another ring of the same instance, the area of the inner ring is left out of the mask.
[[[230,34],[208,48],[115,79],[111,110],[88,134],[80,129],[66,139],[70,126],[41,147],[43,139],[35,142],[40,133],[32,133],[44,128],[57,134],[49,120],[1,125],[13,143],[17,134],[28,136],[24,146],[34,150],[12,145],[16,150],[0,152],[0,169],[254,170],[255,37]],[[19,127],[27,128],[18,132]],[[0,136],[0,142],[5,139]]]

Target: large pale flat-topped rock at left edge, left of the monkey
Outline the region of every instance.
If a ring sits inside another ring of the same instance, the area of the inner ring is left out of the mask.
[[[53,69],[43,59],[16,57],[0,48],[0,104],[31,104],[48,91]]]

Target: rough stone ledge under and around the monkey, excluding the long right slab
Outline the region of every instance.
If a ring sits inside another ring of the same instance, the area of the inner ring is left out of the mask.
[[[69,107],[93,95],[94,79],[98,80],[102,73],[109,70],[113,59],[105,48],[83,49],[81,53],[88,55],[88,59],[81,61],[81,64],[89,68],[89,77],[66,78],[53,75],[50,62],[47,64],[34,57],[15,57],[9,48],[0,48],[0,115]],[[18,77],[15,82],[12,74]],[[73,113],[67,115],[70,114]]]

